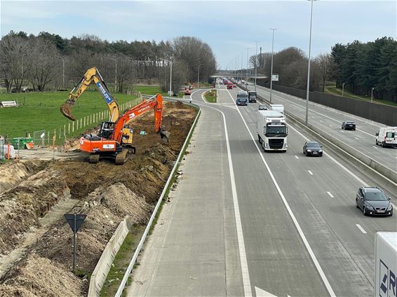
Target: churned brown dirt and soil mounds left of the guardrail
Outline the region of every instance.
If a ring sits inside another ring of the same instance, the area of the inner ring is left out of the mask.
[[[137,152],[125,165],[107,160],[2,165],[0,268],[7,261],[9,267],[3,274],[0,269],[0,296],[85,296],[87,275],[123,216],[133,216],[137,225],[147,223],[195,114],[182,104],[165,105],[169,143],[154,133],[153,113],[137,118]],[[141,130],[147,134],[140,135]],[[69,146],[74,144],[70,141]],[[62,218],[65,213],[87,214],[77,239],[79,276],[70,272],[72,231]]]

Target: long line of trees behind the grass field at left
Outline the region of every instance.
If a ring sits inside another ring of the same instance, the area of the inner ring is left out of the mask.
[[[168,90],[171,64],[174,91],[216,70],[210,46],[191,36],[109,42],[89,34],[67,39],[48,32],[35,36],[11,31],[0,41],[0,79],[7,92],[21,92],[27,85],[36,91],[70,89],[91,67],[117,92],[131,90],[140,81]]]

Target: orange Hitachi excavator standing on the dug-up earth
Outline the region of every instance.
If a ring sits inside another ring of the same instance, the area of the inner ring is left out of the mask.
[[[123,113],[116,122],[103,122],[97,135],[87,134],[80,139],[80,150],[90,153],[90,163],[97,163],[100,158],[114,158],[116,164],[124,164],[135,153],[133,130],[126,127],[134,118],[154,109],[154,129],[161,139],[168,141],[170,132],[161,127],[163,97],[157,94],[144,100],[137,106]]]

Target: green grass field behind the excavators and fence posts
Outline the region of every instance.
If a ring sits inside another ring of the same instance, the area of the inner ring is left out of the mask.
[[[135,87],[135,92],[141,92],[142,94],[155,95],[159,91],[161,91],[161,88],[158,86],[138,85]],[[57,144],[59,144],[61,140],[65,140],[59,139],[59,135],[64,134],[64,127],[67,127],[67,131],[69,131],[69,123],[72,127],[72,121],[60,113],[60,105],[65,102],[67,95],[68,92],[0,94],[0,101],[17,101],[20,104],[18,107],[0,109],[0,135],[8,135],[9,138],[24,137],[25,132],[29,132],[33,137],[34,131],[46,130],[53,135],[55,130],[57,131]],[[114,97],[119,106],[134,99],[134,103],[136,103],[135,96],[116,93]],[[107,105],[100,92],[93,88],[93,90],[83,92],[74,105],[72,113],[76,119],[80,119],[101,111],[107,111]],[[76,137],[82,130],[95,127],[100,121],[99,119],[93,121],[90,126],[75,129],[73,133],[71,129],[71,133],[66,136],[67,138]],[[74,125],[76,125],[76,122]],[[60,129],[61,133],[59,134]]]

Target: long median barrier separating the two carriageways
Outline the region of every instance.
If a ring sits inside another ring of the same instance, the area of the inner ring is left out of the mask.
[[[245,87],[242,85],[238,85],[241,89],[247,90]],[[269,104],[267,99],[264,99],[264,97],[257,95],[258,99],[261,99],[263,102]],[[304,127],[307,129],[307,131],[311,132],[316,137],[321,137],[321,139],[328,141],[329,144],[332,144],[332,146],[335,146],[335,148],[338,148],[339,153],[343,153],[346,158],[349,158],[349,160],[355,162],[356,165],[360,165],[360,167],[364,170],[368,170],[368,167],[370,167],[372,170],[377,172],[379,174],[379,177],[384,179],[386,183],[389,183],[390,181],[393,182],[393,184],[396,186],[397,184],[397,174],[393,170],[390,170],[386,166],[382,165],[381,163],[377,162],[376,160],[373,160],[372,158],[364,155],[363,153],[357,151],[353,147],[344,144],[343,141],[340,141],[339,139],[336,139],[335,137],[332,137],[330,134],[325,133],[324,131],[318,129],[314,125],[306,126],[304,123],[304,120],[301,118],[295,116],[294,114],[284,111],[285,115],[288,116],[290,119],[292,119],[295,123],[299,123],[301,127]],[[360,161],[361,163],[357,163],[356,161]]]

